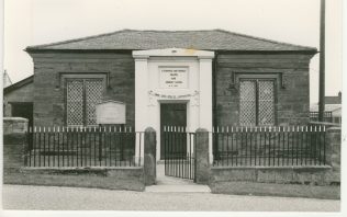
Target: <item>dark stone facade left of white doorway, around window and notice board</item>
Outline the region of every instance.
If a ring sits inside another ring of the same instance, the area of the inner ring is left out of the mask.
[[[44,53],[31,54],[34,60],[34,125],[65,125],[63,75],[107,75],[104,100],[126,104],[126,125],[134,125],[134,60],[128,53]]]

